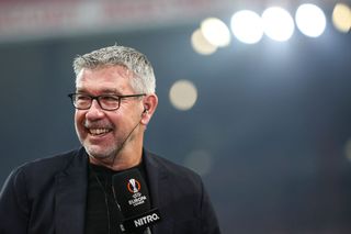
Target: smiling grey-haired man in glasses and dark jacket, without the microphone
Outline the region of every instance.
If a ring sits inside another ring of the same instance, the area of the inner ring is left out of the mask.
[[[11,172],[0,193],[0,233],[123,233],[112,178],[137,169],[161,216],[141,233],[218,234],[201,178],[143,146],[158,103],[146,56],[111,46],[78,56],[73,68],[69,97],[82,147]]]

